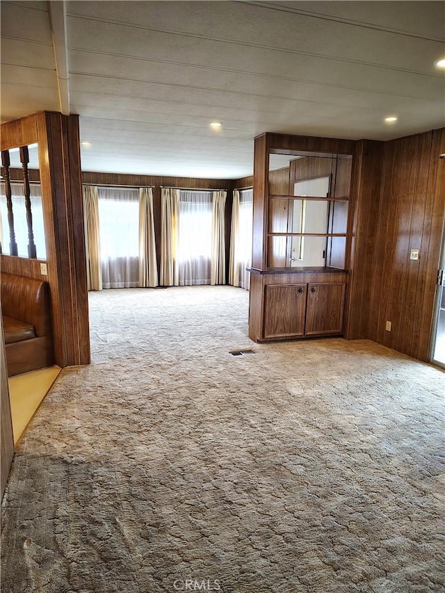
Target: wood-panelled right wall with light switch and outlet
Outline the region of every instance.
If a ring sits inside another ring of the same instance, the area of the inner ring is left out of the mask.
[[[444,152],[445,129],[385,143],[373,258],[369,338],[425,361],[445,219]],[[418,261],[411,249],[420,250]]]

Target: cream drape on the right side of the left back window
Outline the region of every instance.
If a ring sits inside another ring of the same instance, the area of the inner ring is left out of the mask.
[[[158,286],[153,190],[139,188],[139,286]]]

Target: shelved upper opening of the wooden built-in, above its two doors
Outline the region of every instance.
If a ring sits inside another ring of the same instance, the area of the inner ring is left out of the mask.
[[[344,267],[351,162],[269,154],[268,267]]]

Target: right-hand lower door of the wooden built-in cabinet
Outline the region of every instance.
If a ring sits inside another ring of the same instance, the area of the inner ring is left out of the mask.
[[[307,336],[341,334],[345,285],[342,283],[307,285]]]

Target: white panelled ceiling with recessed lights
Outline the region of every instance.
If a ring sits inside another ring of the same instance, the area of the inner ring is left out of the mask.
[[[444,126],[444,38],[442,1],[1,1],[1,120],[79,113],[86,171],[236,179],[265,131]]]

